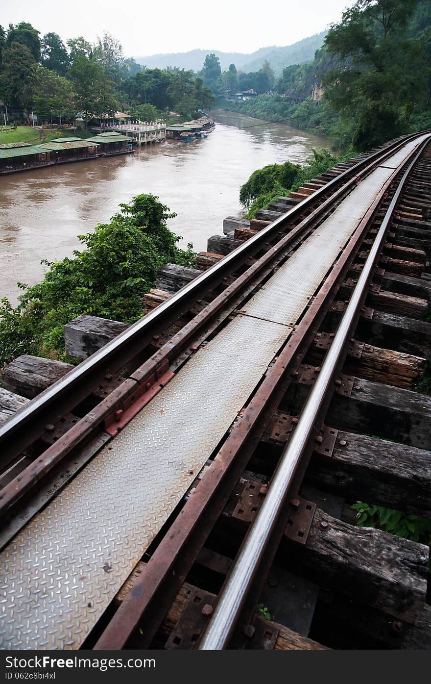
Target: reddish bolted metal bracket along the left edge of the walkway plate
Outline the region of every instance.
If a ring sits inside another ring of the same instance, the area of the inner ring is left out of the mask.
[[[136,391],[118,406],[111,415],[105,419],[105,430],[115,436],[124,428],[137,413],[161,391],[174,376],[169,369],[169,360],[165,359],[155,373],[146,382],[137,386]]]

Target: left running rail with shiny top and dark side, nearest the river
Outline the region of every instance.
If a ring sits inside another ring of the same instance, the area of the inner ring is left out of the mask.
[[[98,352],[92,354],[92,356],[80,363],[79,366],[67,373],[66,376],[57,380],[57,382],[34,399],[31,399],[28,404],[0,425],[0,446],[11,442],[20,445],[23,442],[23,448],[25,448],[27,446],[25,434],[29,425],[32,425],[35,421],[42,421],[44,412],[50,409],[55,412],[57,410],[70,410],[72,406],[78,404],[88,394],[87,391],[83,390],[83,383],[85,382],[85,388],[91,382],[94,385],[98,384],[98,378],[102,373],[106,372],[109,363],[113,363],[115,354],[119,352],[120,348],[131,345],[132,351],[130,351],[129,358],[133,358],[137,351],[141,350],[145,344],[151,341],[154,334],[160,332],[161,329],[166,328],[186,313],[191,306],[191,300],[199,299],[199,296],[213,289],[223,278],[245,263],[249,257],[258,252],[259,248],[265,244],[268,238],[277,235],[279,229],[289,219],[301,214],[303,209],[314,205],[316,199],[318,200],[321,196],[327,194],[328,190],[340,185],[340,181],[346,179],[347,176],[352,175],[354,177],[357,172],[371,168],[376,161],[389,157],[395,151],[401,149],[407,142],[415,140],[419,135],[423,135],[423,132],[406,136],[401,141],[395,141],[393,144],[383,148],[383,150],[378,150],[369,157],[365,157],[365,159],[354,164],[354,166],[335,176],[332,181],[329,181],[329,183],[316,190],[305,200],[289,209],[269,226],[266,226],[262,231],[247,240],[245,244],[227,254],[219,263],[212,266],[201,276],[197,276],[189,285],[173,294],[169,300],[166,300],[163,304],[157,306],[154,311],[151,311],[127,328],[127,330],[124,330],[124,332],[107,343]],[[70,399],[66,400],[66,397],[74,397],[74,403]],[[68,402],[68,408],[64,409],[61,402],[66,401]]]

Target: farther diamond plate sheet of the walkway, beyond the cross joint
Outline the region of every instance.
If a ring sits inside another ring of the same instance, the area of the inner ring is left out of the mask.
[[[378,168],[362,181],[242,311],[294,325],[391,173],[391,169]]]

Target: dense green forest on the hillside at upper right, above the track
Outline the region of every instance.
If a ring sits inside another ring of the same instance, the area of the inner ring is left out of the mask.
[[[313,62],[287,66],[268,88],[248,76],[238,79],[240,90],[246,85],[259,96],[227,101],[226,109],[325,135],[337,150],[361,151],[426,129],[431,127],[431,5],[359,0],[331,26]]]

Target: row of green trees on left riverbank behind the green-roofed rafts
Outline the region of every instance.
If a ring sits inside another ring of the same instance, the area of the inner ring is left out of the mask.
[[[0,27],[0,99],[8,118],[25,121],[33,112],[38,122],[61,123],[81,114],[85,124],[124,109],[141,120],[166,118],[171,109],[189,118],[214,102],[195,73],[145,69],[124,57],[111,34],[65,44],[26,22]]]

